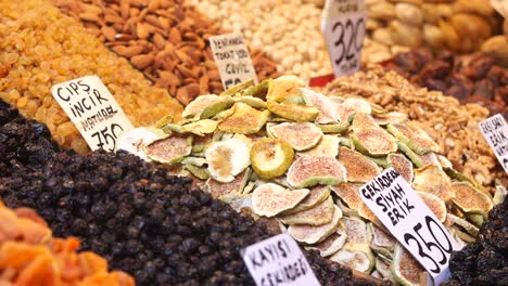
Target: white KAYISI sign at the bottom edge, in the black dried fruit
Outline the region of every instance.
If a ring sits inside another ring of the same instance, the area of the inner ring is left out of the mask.
[[[246,247],[242,258],[257,286],[319,285],[307,259],[288,233]]]

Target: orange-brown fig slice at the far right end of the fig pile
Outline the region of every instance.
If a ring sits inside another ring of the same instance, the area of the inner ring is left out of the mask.
[[[452,190],[455,194],[454,204],[466,212],[480,213],[486,218],[494,207],[492,199],[485,193],[469,183],[453,182]]]

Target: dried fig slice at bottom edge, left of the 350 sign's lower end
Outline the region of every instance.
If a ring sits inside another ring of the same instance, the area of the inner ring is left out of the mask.
[[[404,286],[421,285],[420,276],[426,271],[399,244],[395,246],[390,269],[395,281]]]

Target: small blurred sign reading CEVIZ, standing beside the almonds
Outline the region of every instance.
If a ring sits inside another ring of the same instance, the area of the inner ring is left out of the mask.
[[[254,79],[257,84],[256,70],[241,34],[209,37],[209,46],[224,89],[227,90],[249,79]]]

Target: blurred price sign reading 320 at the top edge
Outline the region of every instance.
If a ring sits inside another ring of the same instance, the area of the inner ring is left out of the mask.
[[[359,70],[367,12],[360,0],[328,0],[321,29],[335,77]]]

